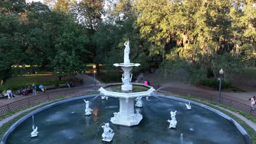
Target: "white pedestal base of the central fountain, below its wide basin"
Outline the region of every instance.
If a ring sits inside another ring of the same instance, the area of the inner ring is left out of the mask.
[[[120,98],[119,100],[120,110],[119,112],[114,112],[114,117],[110,119],[110,122],[126,127],[138,125],[143,116],[140,113],[134,113],[134,99]]]

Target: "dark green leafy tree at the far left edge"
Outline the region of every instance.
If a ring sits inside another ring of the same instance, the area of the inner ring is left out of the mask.
[[[4,85],[11,77],[11,66],[24,60],[22,53],[19,13],[24,11],[24,1],[0,2],[0,80]]]

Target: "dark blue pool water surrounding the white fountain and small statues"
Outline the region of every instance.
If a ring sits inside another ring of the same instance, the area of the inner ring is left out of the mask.
[[[11,133],[7,143],[94,143],[100,124],[109,122],[113,112],[119,111],[119,99],[101,100],[98,97],[86,100],[90,100],[90,107],[94,110],[91,116],[84,115],[83,99],[56,105],[34,115],[34,124],[39,131],[37,137],[31,138],[30,117]],[[150,97],[149,100],[142,100],[143,119],[139,125],[123,127],[109,122],[115,133],[110,143],[179,143],[181,133],[184,144],[245,143],[234,124],[212,111],[196,105],[191,105],[192,110],[187,110],[183,102],[168,98]],[[169,129],[167,120],[171,119],[170,111],[175,110],[178,111],[178,123],[176,129]],[[100,128],[95,143],[108,143],[101,141],[102,133],[103,129]]]

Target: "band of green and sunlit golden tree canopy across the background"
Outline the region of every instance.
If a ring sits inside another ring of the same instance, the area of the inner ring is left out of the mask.
[[[160,67],[164,76],[196,82],[223,68],[225,79],[255,65],[253,0],[47,0],[0,2],[0,78],[13,64],[37,64],[65,76],[85,63],[121,63],[126,40],[134,69]],[[161,63],[158,62],[160,59]],[[152,67],[152,66],[151,66]],[[97,67],[97,70],[98,67]],[[99,71],[98,71],[99,72]]]

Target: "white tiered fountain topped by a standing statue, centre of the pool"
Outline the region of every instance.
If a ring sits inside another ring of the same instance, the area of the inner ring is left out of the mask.
[[[115,67],[121,67],[124,74],[121,77],[123,83],[112,83],[98,89],[106,97],[115,97],[120,100],[119,112],[114,112],[114,117],[110,119],[113,124],[124,125],[130,127],[141,122],[143,116],[136,112],[134,113],[134,100],[137,97],[148,97],[155,89],[151,86],[142,83],[131,83],[132,67],[138,67],[141,64],[130,63],[129,41],[125,42],[124,63],[115,63]]]

